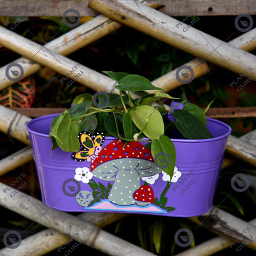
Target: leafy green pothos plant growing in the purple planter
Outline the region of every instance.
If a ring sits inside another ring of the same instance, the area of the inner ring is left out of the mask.
[[[175,167],[175,147],[170,140],[177,129],[184,138],[212,138],[206,129],[206,116],[199,106],[189,103],[182,95],[182,110],[166,110],[163,98],[177,99],[153,86],[143,76],[103,71],[116,80],[119,94],[97,92],[82,94],[73,100],[73,107],[55,117],[51,124],[52,150],[76,152],[80,148],[78,134],[85,130],[91,135],[103,132],[125,142],[147,142],[154,161],[172,177]],[[145,90],[160,90],[148,94]],[[173,116],[173,122],[168,118]],[[148,139],[145,139],[147,137]],[[157,159],[156,159],[157,158]],[[168,164],[166,164],[168,163]],[[166,167],[167,166],[167,167]]]

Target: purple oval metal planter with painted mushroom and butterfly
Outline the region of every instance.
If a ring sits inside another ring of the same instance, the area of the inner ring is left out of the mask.
[[[71,212],[130,212],[191,217],[212,207],[222,166],[227,124],[207,118],[214,138],[172,139],[177,159],[174,177],[154,164],[146,142],[124,145],[114,137],[81,132],[81,150],[50,151],[51,114],[28,122],[34,161],[47,206]],[[96,158],[97,157],[97,158]],[[88,158],[88,161],[82,161]]]

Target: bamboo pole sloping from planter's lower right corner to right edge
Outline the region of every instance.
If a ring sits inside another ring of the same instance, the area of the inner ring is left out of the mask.
[[[205,214],[188,219],[225,238],[246,242],[248,247],[256,250],[256,226],[224,210],[213,206]]]

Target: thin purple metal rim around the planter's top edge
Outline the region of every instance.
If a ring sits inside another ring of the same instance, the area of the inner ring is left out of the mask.
[[[41,137],[50,138],[49,134],[42,134],[41,132],[36,132],[34,130],[31,130],[29,126],[30,126],[30,124],[33,124],[33,122],[40,121],[41,119],[45,119],[45,118],[48,118],[48,117],[51,117],[51,116],[55,117],[57,115],[58,114],[47,114],[45,116],[39,116],[38,118],[34,118],[31,121],[27,122],[26,129],[31,134],[38,135],[38,136],[41,136]],[[231,129],[230,126],[228,126],[228,124],[225,124],[225,122],[218,121],[217,119],[214,119],[214,118],[206,118],[206,119],[207,119],[207,121],[215,122],[215,123],[219,124],[220,126],[225,126],[228,131],[225,134],[223,134],[221,136],[218,136],[218,137],[214,137],[214,138],[205,138],[205,139],[170,138],[170,140],[172,140],[172,142],[183,142],[183,143],[213,142],[215,140],[221,140],[222,138],[225,138],[225,137],[227,137],[228,135],[231,134],[232,129]],[[106,139],[113,139],[113,138],[117,139],[116,137],[112,137],[112,136],[105,136],[105,138]],[[149,138],[142,138],[142,139],[143,140],[148,140],[149,142],[151,141]]]

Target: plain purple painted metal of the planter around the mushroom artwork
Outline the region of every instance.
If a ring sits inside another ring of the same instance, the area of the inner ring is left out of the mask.
[[[70,152],[63,152],[60,148],[55,149],[50,157],[50,150],[52,148],[52,142],[49,138],[50,122],[55,116],[57,114],[42,116],[33,119],[27,124],[41,186],[42,201],[47,206],[70,212],[118,211],[174,217],[200,215],[212,207],[226,140],[231,133],[231,128],[227,124],[207,118],[207,128],[215,138],[206,140],[172,139],[177,152],[175,166],[177,166],[178,171],[182,175],[178,178],[177,182],[170,183],[170,187],[167,190],[166,197],[168,199],[166,207],[175,208],[175,210],[167,212],[165,209],[156,206],[154,202],[144,207],[110,206],[107,198],[101,202],[95,202],[92,206],[82,207],[76,201],[76,196],[67,196],[63,193],[62,185],[65,180],[74,179],[75,170],[78,167],[87,167],[90,169],[90,162],[76,162],[72,159]],[[113,137],[105,137],[102,148],[105,148],[106,145],[115,139]],[[142,144],[145,145],[145,143]],[[138,159],[134,159],[132,164],[135,165],[136,161]],[[162,180],[162,178],[163,175],[160,173],[155,183],[153,185],[149,184],[153,189],[154,198],[158,198],[158,200],[169,183]],[[92,177],[90,182],[95,182],[96,184],[100,182],[105,187],[108,186],[108,183],[113,185],[113,182],[98,180],[96,177]],[[145,183],[142,179],[140,182],[141,185]],[[77,183],[81,186],[80,191],[92,193],[91,186],[81,181],[69,183],[71,191],[76,190]],[[65,188],[66,191],[67,189]],[[103,205],[102,207],[100,207],[101,203]],[[106,206],[108,206],[109,210],[106,210]]]

